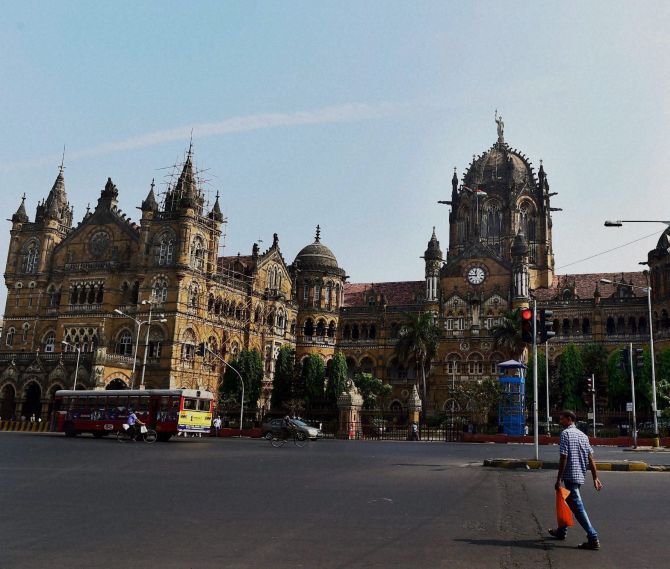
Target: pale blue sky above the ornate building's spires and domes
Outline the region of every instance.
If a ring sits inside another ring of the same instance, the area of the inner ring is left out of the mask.
[[[454,167],[462,177],[496,141],[496,109],[506,142],[542,159],[558,192],[558,273],[639,270],[664,226],[604,220],[670,218],[667,2],[0,8],[4,219],[24,193],[34,219],[65,146],[75,220],[111,177],[138,221],[192,132],[228,218],[221,254],[277,233],[291,263],[319,224],[351,282],[421,280],[433,226],[448,246],[437,201]]]

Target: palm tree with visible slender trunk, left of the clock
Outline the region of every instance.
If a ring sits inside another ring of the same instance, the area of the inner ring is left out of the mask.
[[[426,364],[437,353],[437,344],[440,338],[440,329],[437,327],[430,312],[405,315],[405,322],[400,329],[396,352],[399,359],[407,361],[414,358],[417,368],[421,369],[423,404],[426,407]]]

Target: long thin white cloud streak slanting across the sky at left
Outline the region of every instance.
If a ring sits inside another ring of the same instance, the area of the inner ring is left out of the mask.
[[[332,107],[324,107],[312,111],[296,111],[292,113],[260,113],[256,115],[247,115],[241,117],[232,117],[219,122],[192,124],[173,128],[169,130],[159,130],[140,136],[134,136],[118,142],[110,142],[87,148],[84,150],[75,150],[67,152],[68,161],[78,158],[88,158],[91,156],[103,156],[114,152],[124,152],[126,150],[137,150],[140,148],[149,148],[167,142],[179,140],[189,140],[191,133],[194,139],[205,138],[208,136],[220,136],[226,134],[235,134],[240,132],[251,132],[255,130],[264,130],[270,128],[294,127],[303,125],[333,124],[344,122],[358,122],[363,120],[380,119],[393,114],[397,114],[407,105],[396,103],[379,103],[368,105],[364,103],[349,103]],[[53,155],[40,159],[23,160],[12,164],[5,164],[1,169],[3,171],[16,170],[21,168],[43,166],[53,164],[54,160],[60,160],[59,155]]]

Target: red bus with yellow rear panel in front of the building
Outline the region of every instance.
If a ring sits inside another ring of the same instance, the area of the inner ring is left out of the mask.
[[[209,433],[213,404],[212,393],[200,389],[61,390],[54,396],[52,428],[68,437],[104,437],[122,428],[130,408],[167,441],[180,431]]]

